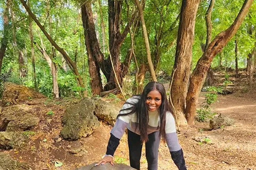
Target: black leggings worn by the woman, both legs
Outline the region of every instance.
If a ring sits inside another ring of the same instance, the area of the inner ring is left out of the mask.
[[[148,162],[148,170],[157,170],[158,148],[160,144],[159,131],[155,131],[148,135],[146,142],[146,158]],[[128,146],[130,156],[130,166],[140,170],[140,157],[142,143],[140,135],[128,130]]]

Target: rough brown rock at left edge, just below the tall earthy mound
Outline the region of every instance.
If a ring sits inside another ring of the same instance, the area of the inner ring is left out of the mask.
[[[4,107],[0,117],[10,120],[6,131],[24,131],[36,127],[40,120],[31,107],[25,104]]]

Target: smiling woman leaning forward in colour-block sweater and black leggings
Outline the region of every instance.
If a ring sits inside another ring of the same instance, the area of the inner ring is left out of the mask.
[[[119,140],[128,129],[130,166],[140,169],[142,144],[146,145],[148,170],[157,170],[160,137],[167,142],[171,157],[179,170],[186,170],[183,151],[176,134],[175,121],[161,83],[149,82],[141,95],[129,98],[117,116],[110,131],[110,139],[104,158],[96,165],[110,162]]]

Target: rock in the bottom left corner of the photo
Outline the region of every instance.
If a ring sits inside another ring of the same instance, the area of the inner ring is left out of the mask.
[[[30,168],[15,159],[13,159],[9,154],[0,152],[0,170],[29,170]]]

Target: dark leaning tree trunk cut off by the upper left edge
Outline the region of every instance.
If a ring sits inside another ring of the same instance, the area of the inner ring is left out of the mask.
[[[4,31],[3,31],[3,38],[1,41],[1,49],[0,49],[0,73],[1,73],[1,68],[2,68],[2,62],[6,50],[6,46],[8,43],[8,29],[9,29],[9,5],[10,5],[11,0],[6,0],[6,8],[3,13],[3,21],[4,21]]]

